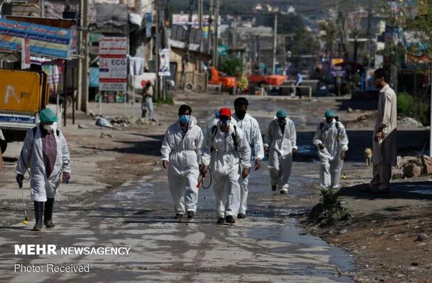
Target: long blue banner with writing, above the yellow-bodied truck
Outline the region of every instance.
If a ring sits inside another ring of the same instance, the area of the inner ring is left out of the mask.
[[[30,39],[32,55],[68,58],[70,29],[0,18],[0,48],[19,51],[22,38]]]

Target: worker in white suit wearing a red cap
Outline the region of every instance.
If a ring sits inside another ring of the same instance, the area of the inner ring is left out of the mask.
[[[206,133],[203,144],[203,177],[213,174],[217,223],[236,223],[240,207],[240,183],[250,171],[251,149],[242,129],[231,123],[231,110],[219,110],[219,123]],[[240,165],[240,166],[239,166]]]

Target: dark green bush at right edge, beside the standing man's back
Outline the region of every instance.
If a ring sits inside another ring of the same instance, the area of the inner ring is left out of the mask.
[[[408,93],[399,93],[397,95],[398,115],[415,118],[423,125],[430,125],[429,105],[430,98],[428,97],[422,98],[417,94],[410,95]]]

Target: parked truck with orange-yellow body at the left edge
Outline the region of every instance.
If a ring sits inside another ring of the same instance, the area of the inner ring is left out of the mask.
[[[0,148],[22,142],[49,100],[47,75],[35,70],[0,69]]]

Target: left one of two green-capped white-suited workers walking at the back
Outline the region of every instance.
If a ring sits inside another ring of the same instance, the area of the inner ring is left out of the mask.
[[[279,189],[281,194],[288,194],[293,154],[297,152],[296,141],[294,122],[288,118],[288,112],[279,110],[268,125],[264,144],[272,191]]]

